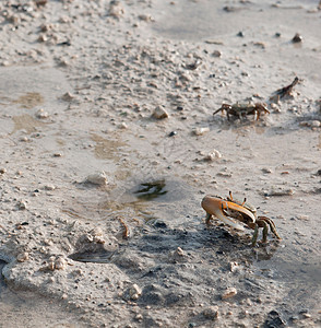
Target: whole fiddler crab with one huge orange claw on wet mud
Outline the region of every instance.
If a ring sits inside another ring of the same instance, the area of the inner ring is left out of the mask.
[[[259,227],[263,227],[262,243],[268,241],[269,226],[277,239],[281,239],[276,232],[274,222],[266,216],[257,216],[257,209],[247,203],[247,199],[238,201],[233,198],[231,192],[224,199],[218,196],[205,196],[202,200],[202,208],[206,212],[206,224],[209,225],[212,215],[218,218],[222,222],[243,231],[243,226],[237,221],[246,224],[248,227],[254,230],[252,237],[252,246],[255,246],[258,241]]]

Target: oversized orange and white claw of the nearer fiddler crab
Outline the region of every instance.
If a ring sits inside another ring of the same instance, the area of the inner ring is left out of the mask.
[[[203,198],[201,204],[207,214],[214,215],[217,219],[219,219],[222,222],[224,222],[235,229],[238,229],[238,230],[245,230],[245,229],[242,225],[238,224],[231,218],[226,216],[222,209],[231,209],[231,210],[237,210],[237,211],[239,211],[241,209],[242,211],[249,212],[249,215],[252,215],[252,213],[250,211],[248,211],[247,209],[245,209],[236,203],[233,203],[230,201],[226,201],[224,199],[219,199],[216,197],[205,196]]]

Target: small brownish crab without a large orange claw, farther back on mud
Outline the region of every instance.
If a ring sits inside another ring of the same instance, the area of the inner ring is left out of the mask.
[[[260,119],[261,114],[270,114],[266,108],[266,105],[263,103],[255,103],[255,104],[240,104],[236,103],[234,105],[222,104],[221,108],[215,110],[213,115],[218,112],[226,112],[227,119],[229,120],[230,116],[236,116],[239,119],[246,117],[247,115],[254,115],[257,120]]]

